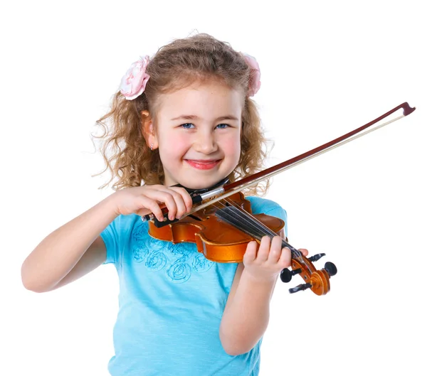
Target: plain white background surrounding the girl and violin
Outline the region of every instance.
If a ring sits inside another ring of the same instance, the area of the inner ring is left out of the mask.
[[[139,55],[195,30],[257,58],[268,165],[408,102],[410,116],[274,178],[331,291],[278,284],[261,376],[426,375],[423,1],[14,1],[1,6],[1,375],[107,375],[117,276],[23,289],[23,259],[112,191],[90,131]],[[401,112],[399,111],[399,114]],[[302,280],[297,277],[289,285]]]

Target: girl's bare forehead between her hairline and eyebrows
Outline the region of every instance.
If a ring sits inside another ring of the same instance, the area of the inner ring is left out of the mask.
[[[243,90],[236,90],[221,82],[194,82],[188,87],[159,95],[157,117],[173,119],[194,115],[204,119],[224,114],[241,118],[244,105]]]

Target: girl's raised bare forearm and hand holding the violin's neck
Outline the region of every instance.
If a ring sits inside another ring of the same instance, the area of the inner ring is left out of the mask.
[[[258,252],[248,244],[243,264],[238,265],[219,330],[228,355],[250,351],[265,333],[270,318],[270,299],[282,269],[290,266],[290,249],[281,249],[281,238],[263,237]],[[307,249],[300,249],[307,254]],[[244,266],[243,266],[244,265]]]

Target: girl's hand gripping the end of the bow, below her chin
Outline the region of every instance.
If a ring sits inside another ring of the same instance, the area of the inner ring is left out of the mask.
[[[167,207],[169,220],[179,218],[189,212],[193,206],[191,196],[181,187],[167,187],[160,184],[124,188],[112,194],[117,215],[135,213],[147,215],[153,213],[157,220],[163,221],[161,205]]]

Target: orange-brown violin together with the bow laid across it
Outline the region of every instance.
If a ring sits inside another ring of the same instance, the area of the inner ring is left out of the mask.
[[[389,117],[399,109],[403,109],[403,115],[400,117],[370,128],[373,124]],[[282,247],[288,247],[292,255],[292,270],[283,269],[280,273],[280,280],[288,283],[292,276],[299,274],[304,283],[289,289],[291,294],[310,289],[316,295],[325,295],[330,291],[330,277],[337,274],[337,267],[332,262],[326,262],[324,268],[317,270],[313,262],[325,256],[325,253],[305,257],[295,247],[292,247],[288,243],[288,239],[283,236],[285,222],[278,217],[262,213],[253,214],[251,203],[241,191],[337,146],[384,127],[386,124],[411,114],[414,110],[415,107],[410,107],[407,102],[404,102],[381,115],[381,117],[354,129],[354,131],[288,161],[278,163],[251,176],[246,176],[240,181],[229,183],[228,179],[224,179],[211,188],[187,189],[194,205],[192,210],[179,220],[166,219],[164,222],[159,222],[152,213],[144,215],[142,220],[149,221],[150,236],[173,243],[193,242],[196,244],[197,250],[203,253],[206,259],[214,262],[242,262],[248,242],[255,240],[259,244],[263,236],[280,235]],[[362,131],[364,132],[362,133]],[[166,216],[167,208],[162,208],[162,212]]]

